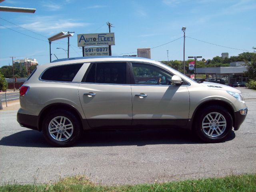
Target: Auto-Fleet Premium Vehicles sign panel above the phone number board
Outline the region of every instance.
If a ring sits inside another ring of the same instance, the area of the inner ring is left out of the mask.
[[[85,46],[108,46],[115,44],[114,33],[78,34],[78,47]]]

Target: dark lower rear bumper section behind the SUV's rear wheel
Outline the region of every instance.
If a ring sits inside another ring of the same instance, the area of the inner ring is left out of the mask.
[[[37,120],[38,120],[38,116],[17,113],[17,121],[22,127],[38,130]]]

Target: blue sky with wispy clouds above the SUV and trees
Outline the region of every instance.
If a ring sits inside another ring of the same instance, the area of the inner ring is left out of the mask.
[[[70,38],[70,57],[82,56],[77,34],[106,33],[108,21],[114,26],[113,55],[171,42],[183,36],[182,26],[187,27],[185,59],[211,59],[222,52],[236,56],[256,46],[255,0],[5,0],[0,6],[36,8],[34,14],[0,12],[0,66],[11,64],[10,56],[48,63],[47,37],[60,31],[75,32]],[[52,42],[52,54],[66,58],[64,50],[57,47],[67,49],[67,38]],[[183,38],[152,49],[151,58],[167,60],[166,50],[169,60],[183,60]]]

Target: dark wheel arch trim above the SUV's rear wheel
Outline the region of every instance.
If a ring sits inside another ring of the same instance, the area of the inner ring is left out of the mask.
[[[44,107],[42,109],[42,111],[39,114],[39,118],[37,121],[37,127],[39,131],[42,131],[42,122],[44,120],[44,118],[46,117],[46,115],[56,109],[62,109],[62,110],[68,110],[70,112],[72,112],[72,114],[74,114],[78,120],[80,125],[82,126],[82,128],[84,129],[86,126],[88,126],[87,124],[87,120],[83,120],[81,114],[78,112],[78,110],[74,107],[71,106],[69,104],[65,104],[65,103],[54,103],[54,104],[50,104],[46,107]]]

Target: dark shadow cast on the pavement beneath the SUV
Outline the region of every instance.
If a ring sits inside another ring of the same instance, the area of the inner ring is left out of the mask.
[[[233,140],[232,131],[226,141]],[[90,131],[85,132],[76,146],[145,146],[156,144],[199,144],[201,142],[188,130],[143,130],[143,131]],[[25,130],[3,137],[2,146],[52,147],[44,140],[42,132]]]

